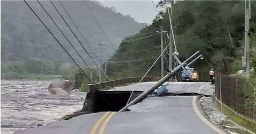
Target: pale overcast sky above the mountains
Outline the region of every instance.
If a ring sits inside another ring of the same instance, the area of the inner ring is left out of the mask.
[[[130,15],[137,22],[151,23],[157,14],[154,5],[157,5],[158,0],[97,0],[104,6],[114,6],[117,12],[123,15]],[[161,8],[156,8],[158,11]]]

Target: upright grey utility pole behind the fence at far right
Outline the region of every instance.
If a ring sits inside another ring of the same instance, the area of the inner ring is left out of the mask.
[[[250,79],[250,1],[244,1],[244,55],[245,55],[245,78]]]

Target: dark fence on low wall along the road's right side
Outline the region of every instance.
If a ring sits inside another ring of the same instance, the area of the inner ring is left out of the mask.
[[[255,81],[216,75],[214,94],[223,104],[256,122]]]

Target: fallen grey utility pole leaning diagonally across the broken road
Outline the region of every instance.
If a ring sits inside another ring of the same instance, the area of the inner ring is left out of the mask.
[[[195,59],[201,58],[202,55],[200,55],[199,51],[195,52],[193,55],[191,55],[189,58],[187,58],[185,61],[183,61],[181,64],[179,64],[176,68],[170,71],[167,75],[165,75],[163,78],[161,78],[156,84],[151,86],[149,89],[147,89],[145,92],[143,92],[141,95],[139,95],[137,98],[132,100],[130,103],[128,103],[125,107],[123,107],[119,112],[126,111],[127,108],[131,105],[134,105],[140,101],[142,101],[144,98],[146,98],[149,94],[151,94],[155,89],[157,89],[159,86],[161,86],[164,82],[166,82],[170,77],[174,75],[176,71],[178,71],[180,68],[182,68],[185,65],[190,65],[195,61]],[[188,62],[190,61],[190,62]],[[187,63],[188,62],[188,63]]]

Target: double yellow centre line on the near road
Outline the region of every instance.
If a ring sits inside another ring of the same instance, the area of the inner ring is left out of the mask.
[[[90,131],[90,134],[95,134],[99,124],[106,118],[106,120],[102,123],[100,129],[99,129],[99,132],[98,134],[103,134],[104,130],[105,130],[105,127],[106,127],[106,124],[108,123],[108,121],[111,119],[111,117],[114,115],[115,112],[106,112],[96,123],[95,125],[93,126],[93,128],[91,129]]]

